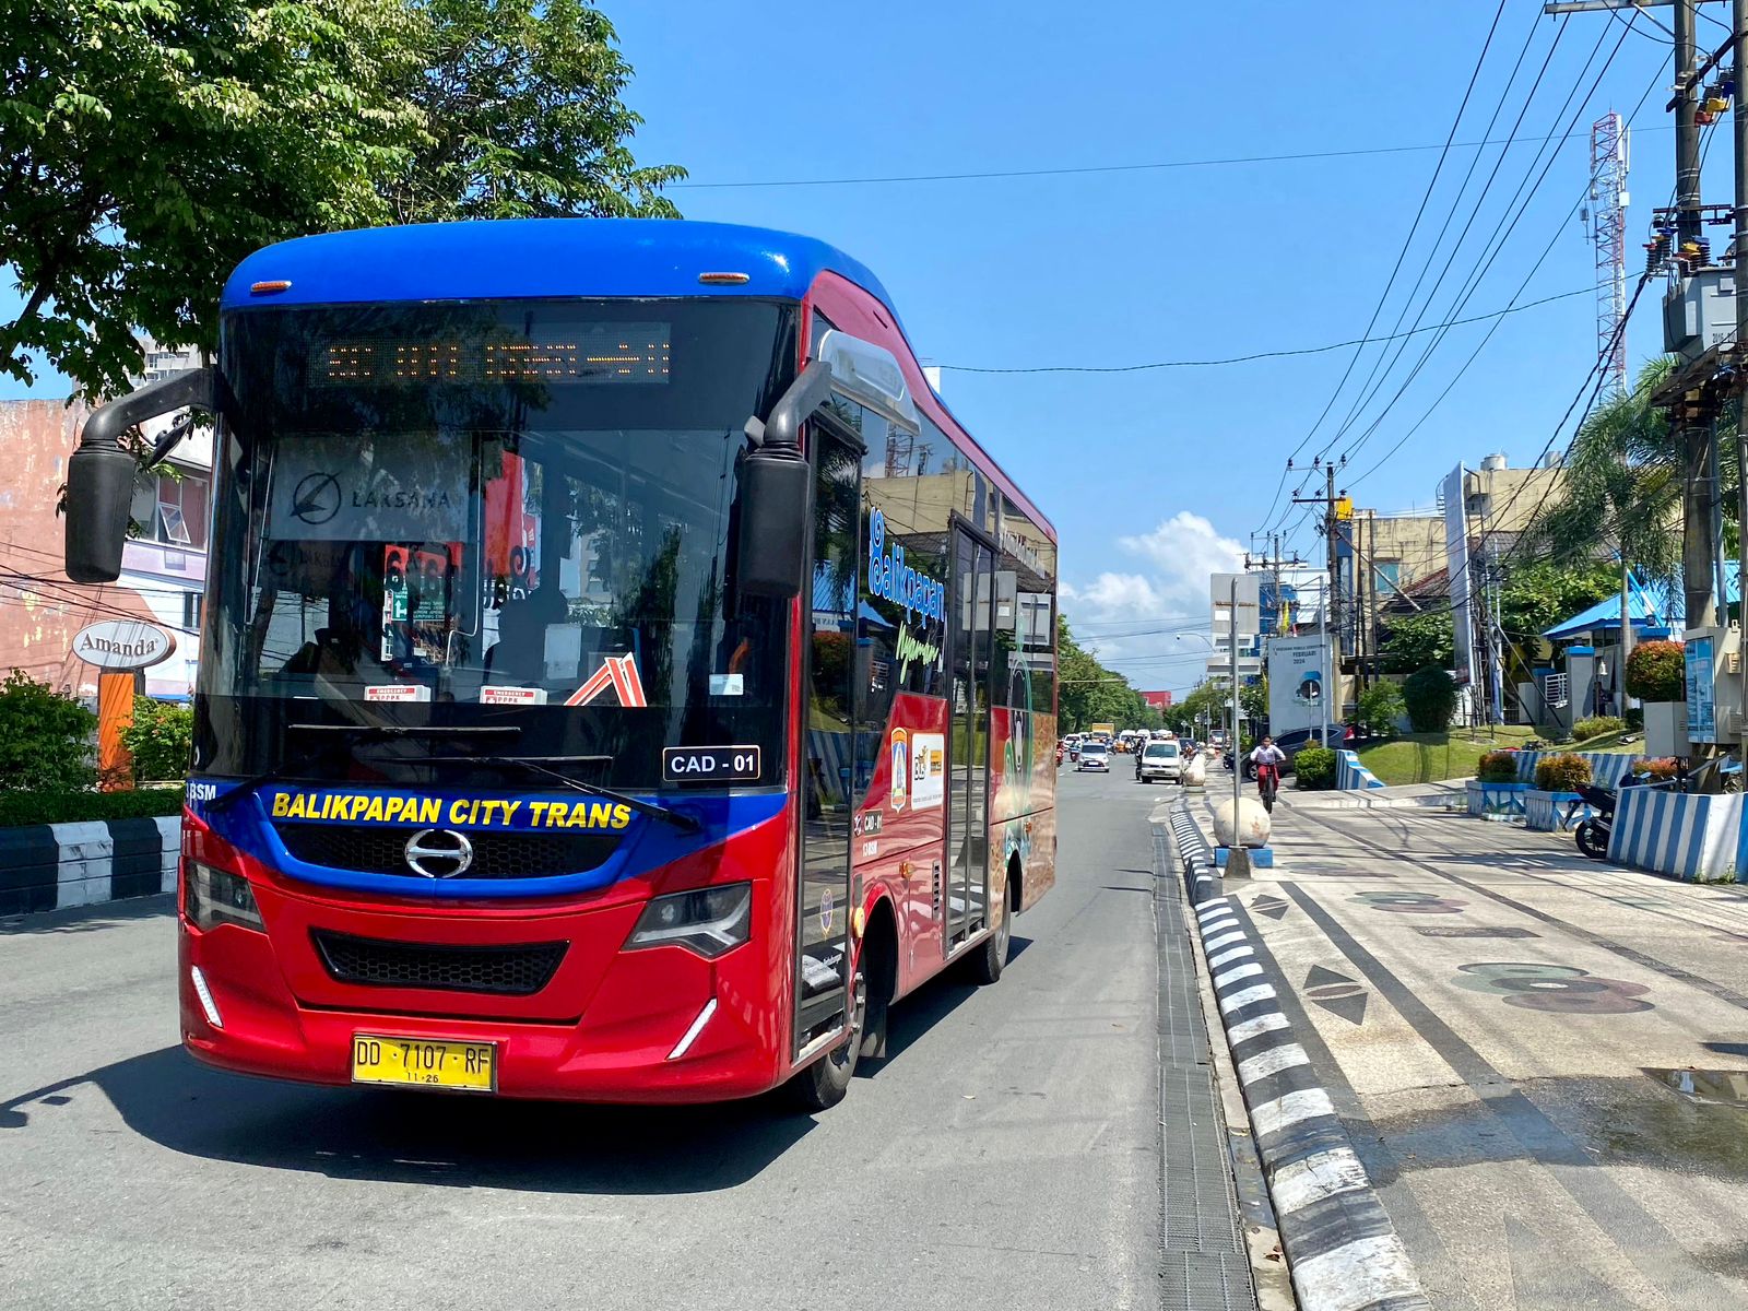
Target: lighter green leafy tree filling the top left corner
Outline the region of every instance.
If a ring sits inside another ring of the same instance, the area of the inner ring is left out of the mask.
[[[372,178],[411,157],[393,86],[423,21],[402,0],[7,0],[0,264],[23,306],[0,369],[38,360],[87,397],[126,390],[135,329],[212,346],[250,250],[383,222]]]

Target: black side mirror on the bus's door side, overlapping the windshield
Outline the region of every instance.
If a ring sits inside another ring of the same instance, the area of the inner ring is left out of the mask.
[[[771,407],[750,423],[759,446],[741,461],[741,533],[736,579],[743,593],[787,601],[801,594],[808,558],[813,472],[801,453],[801,425],[832,393],[832,365],[813,360]]]

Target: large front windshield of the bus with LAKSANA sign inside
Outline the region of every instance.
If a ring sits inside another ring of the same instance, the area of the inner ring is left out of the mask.
[[[495,725],[591,781],[656,787],[680,745],[781,781],[783,633],[731,526],[794,358],[752,301],[234,315],[198,766],[456,781],[428,745],[299,760],[287,725]]]

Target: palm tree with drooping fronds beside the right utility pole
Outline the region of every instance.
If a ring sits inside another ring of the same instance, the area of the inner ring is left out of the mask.
[[[1559,502],[1540,528],[1556,559],[1594,561],[1613,554],[1645,582],[1680,577],[1685,454],[1668,413],[1652,404],[1673,369],[1671,357],[1650,360],[1631,392],[1603,400],[1578,425]],[[1615,575],[1613,591],[1619,589]]]

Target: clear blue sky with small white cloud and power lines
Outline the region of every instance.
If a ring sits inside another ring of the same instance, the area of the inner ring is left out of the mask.
[[[601,7],[635,68],[638,159],[689,170],[669,192],[687,218],[808,232],[876,271],[918,355],[946,365],[954,414],[1054,521],[1077,635],[1150,689],[1197,680],[1204,643],[1178,631],[1206,631],[1208,573],[1262,549],[1252,533],[1280,526],[1288,551],[1320,552],[1309,509],[1287,498],[1325,446],[1349,453],[1337,481],[1356,505],[1400,512],[1430,509],[1458,461],[1524,465],[1563,444],[1596,358],[1594,252],[1575,213],[1591,122],[1640,107],[1629,288],[1673,185],[1668,9],[1629,31],[1505,0],[1475,75],[1496,0]],[[1699,24],[1703,49],[1725,35]],[[1722,131],[1708,201],[1731,198],[1727,117]],[[1197,163],[1232,159],[1250,163]],[[890,180],[965,173],[1030,177]],[[1727,246],[1727,229],[1710,234]],[[1405,346],[965,371],[1308,350],[1543,297],[1563,299]],[[1661,348],[1659,297],[1654,280],[1629,367]],[[14,304],[0,288],[0,315]],[[1379,388],[1344,425],[1379,358]],[[33,388],[65,392],[56,378]],[[0,381],[0,399],[23,393]]]

